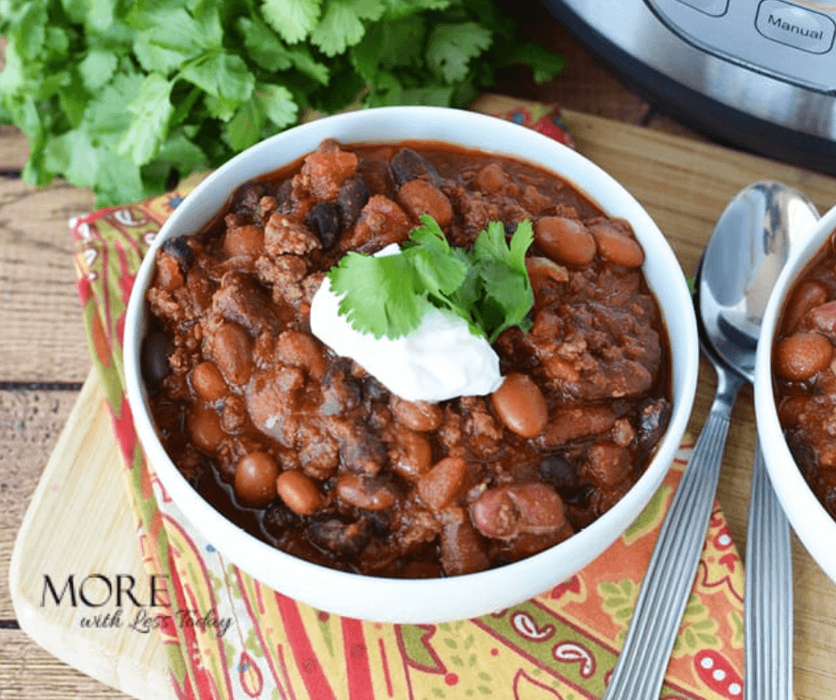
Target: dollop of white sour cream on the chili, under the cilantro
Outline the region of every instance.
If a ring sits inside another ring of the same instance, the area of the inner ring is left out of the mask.
[[[310,303],[310,330],[392,394],[406,401],[439,402],[491,394],[502,384],[499,356],[485,338],[470,332],[460,316],[430,306],[413,332],[400,338],[374,338],[355,330],[340,314],[340,300],[326,277]]]

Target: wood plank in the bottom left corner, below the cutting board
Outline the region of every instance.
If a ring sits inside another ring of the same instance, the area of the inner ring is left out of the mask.
[[[3,700],[125,700],[129,696],[63,664],[19,630],[0,630]]]

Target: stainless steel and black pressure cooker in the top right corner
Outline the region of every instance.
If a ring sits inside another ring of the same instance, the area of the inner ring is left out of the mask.
[[[542,0],[696,131],[836,174],[836,0]]]

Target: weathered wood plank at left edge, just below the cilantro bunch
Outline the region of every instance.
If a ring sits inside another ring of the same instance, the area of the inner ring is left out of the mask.
[[[0,179],[0,381],[84,381],[90,355],[75,289],[68,219],[92,194]]]

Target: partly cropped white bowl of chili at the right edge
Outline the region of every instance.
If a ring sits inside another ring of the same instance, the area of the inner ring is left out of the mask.
[[[836,466],[822,466],[836,448],[828,433],[828,402],[836,396],[836,327],[827,323],[836,312],[834,230],[836,208],[793,249],[778,277],[758,342],[754,399],[776,495],[801,542],[836,582]]]

